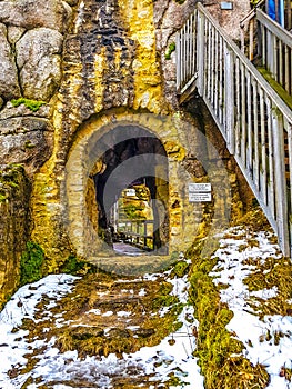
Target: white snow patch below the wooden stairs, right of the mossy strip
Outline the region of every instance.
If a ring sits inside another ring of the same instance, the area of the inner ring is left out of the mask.
[[[233,228],[228,232],[229,238],[223,237],[220,240],[221,247],[213,255],[218,258],[218,263],[210,273],[215,277],[213,280],[215,285],[228,285],[226,289],[221,290],[221,300],[228,303],[234,317],[226,328],[243,342],[245,358],[254,365],[259,362],[266,366],[271,378],[269,389],[292,388],[292,382],[280,377],[282,367],[292,368],[292,317],[266,315],[260,320],[249,306],[249,300],[252,297],[266,300],[276,296],[278,290],[273,287],[250,292],[248,286],[243,283],[255,268],[252,259],[261,258],[264,262],[268,257],[280,258],[279,248],[269,241],[271,236],[269,232],[255,233],[252,239],[255,239],[258,245],[253,247],[246,242],[246,231]],[[246,265],[246,259],[251,265]],[[283,335],[278,341],[273,337],[276,332]],[[266,338],[268,333],[272,335],[271,339]]]

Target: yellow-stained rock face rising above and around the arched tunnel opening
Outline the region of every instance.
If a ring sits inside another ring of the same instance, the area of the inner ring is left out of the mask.
[[[165,103],[153,2],[81,4],[64,41],[53,152],[33,181],[32,240],[43,248],[48,271],[56,271],[70,253],[95,263],[113,255],[98,233],[92,177],[104,168],[102,150],[113,146],[104,146],[102,137],[117,128],[135,127],[137,137],[143,129],[164,150],[155,187],[160,239],[170,257],[202,232],[204,213],[214,216],[214,231],[229,219],[230,182],[218,166],[221,156],[202,134],[199,120],[191,124]],[[190,202],[189,184],[194,182],[212,183],[209,208]]]

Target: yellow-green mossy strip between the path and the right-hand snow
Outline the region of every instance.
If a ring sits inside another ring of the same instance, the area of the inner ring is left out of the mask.
[[[189,250],[193,259],[190,270],[190,300],[200,322],[195,357],[199,358],[207,389],[265,388],[269,375],[261,365],[252,366],[243,358],[243,345],[226,330],[233,313],[220,301],[220,292],[209,272],[217,258],[201,258],[201,242]]]

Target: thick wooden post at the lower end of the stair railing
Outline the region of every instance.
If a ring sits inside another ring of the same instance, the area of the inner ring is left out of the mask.
[[[282,114],[272,110],[272,129],[274,146],[274,173],[275,173],[275,201],[276,201],[276,225],[279,245],[284,256],[290,256],[289,229],[288,229],[288,194],[285,184],[284,162],[284,133]]]

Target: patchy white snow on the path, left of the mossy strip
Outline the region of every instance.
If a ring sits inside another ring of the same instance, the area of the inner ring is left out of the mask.
[[[168,272],[169,273],[169,272]],[[165,277],[168,277],[168,273]],[[155,279],[158,276],[147,276],[149,280]],[[32,319],[36,325],[37,320],[33,317],[36,306],[46,296],[52,302],[50,307],[56,305],[56,300],[68,293],[73,288],[73,282],[77,278],[66,275],[51,275],[32,285],[24,286],[18,290],[12,299],[7,303],[4,310],[0,315],[0,388],[21,388],[29,377],[34,379],[41,377],[40,383],[31,383],[29,389],[34,389],[50,381],[61,381],[62,385],[54,385],[56,389],[71,388],[69,381],[74,381],[82,377],[89,381],[93,381],[97,388],[112,388],[111,378],[118,376],[145,376],[151,375],[150,381],[163,382],[170,378],[170,373],[181,379],[183,388],[202,389],[203,377],[200,375],[200,369],[197,365],[197,359],[192,356],[195,348],[194,337],[190,330],[190,318],[197,323],[193,318],[193,308],[187,305],[187,277],[183,279],[172,279],[173,291],[180,301],[184,305],[183,311],[178,320],[182,327],[174,333],[171,333],[154,347],[143,347],[135,353],[123,355],[123,358],[117,358],[115,355],[109,355],[107,358],[87,357],[84,360],[78,358],[77,351],[67,351],[61,353],[54,347],[56,339],[52,338],[47,343],[44,340],[36,339],[32,343],[26,338],[29,331],[18,330],[16,328],[21,325],[24,318]],[[168,279],[167,279],[168,280]],[[170,281],[170,280],[168,280]],[[145,293],[141,289],[141,295]],[[99,310],[94,311],[100,315]],[[108,311],[104,316],[111,316],[112,311]],[[128,317],[131,312],[119,311],[119,317]],[[48,310],[47,317],[40,320],[46,320],[51,316]],[[54,316],[56,319],[56,316]],[[188,320],[187,320],[188,319]],[[62,315],[57,315],[58,328],[64,325]],[[13,369],[26,367],[28,360],[24,357],[33,352],[36,349],[44,349],[40,351],[41,358],[38,363],[28,373],[13,376]],[[188,383],[189,382],[189,383]],[[82,388],[80,388],[82,389]]]

